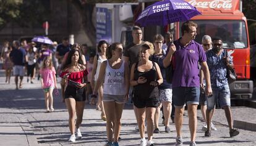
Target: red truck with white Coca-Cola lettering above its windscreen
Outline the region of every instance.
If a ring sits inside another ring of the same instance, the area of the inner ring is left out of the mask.
[[[219,36],[223,39],[223,48],[228,49],[233,58],[237,80],[229,84],[231,98],[252,98],[253,82],[250,81],[250,43],[247,20],[241,12],[242,2],[239,0],[185,0],[197,7],[202,15],[192,18],[197,23],[195,41],[202,42],[202,36]],[[175,38],[181,37],[181,25],[175,23]]]

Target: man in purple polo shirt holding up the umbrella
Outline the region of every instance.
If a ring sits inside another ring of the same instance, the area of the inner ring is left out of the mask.
[[[200,95],[199,67],[202,66],[206,79],[205,93],[211,94],[210,73],[207,66],[207,58],[200,44],[194,41],[197,35],[197,24],[187,21],[181,26],[182,37],[169,47],[163,61],[164,67],[168,67],[171,59],[174,59],[173,73],[173,102],[175,107],[175,126],[177,132],[176,145],[182,145],[181,127],[184,107],[187,103],[189,115],[190,146],[195,144],[197,131],[197,106]]]

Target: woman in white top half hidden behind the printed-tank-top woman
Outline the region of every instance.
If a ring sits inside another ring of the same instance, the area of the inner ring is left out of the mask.
[[[92,81],[91,81],[92,89],[95,85],[95,82],[98,79],[101,63],[106,60],[107,47],[108,47],[108,43],[105,40],[99,41],[97,46],[99,53],[95,55],[93,60]],[[103,97],[103,86],[100,86],[98,88],[98,102],[96,104],[96,110],[101,110],[101,119],[106,121],[106,114],[104,110],[102,97]]]

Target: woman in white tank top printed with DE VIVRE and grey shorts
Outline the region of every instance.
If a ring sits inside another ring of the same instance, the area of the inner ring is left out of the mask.
[[[93,94],[96,94],[97,89],[104,81],[103,102],[106,116],[108,117],[106,120],[108,143],[106,145],[116,146],[118,145],[118,137],[121,129],[122,109],[124,103],[129,99],[129,66],[121,60],[121,43],[113,43],[109,46],[106,55],[108,60],[101,64],[100,74],[96,81]],[[113,133],[113,131],[115,132]]]

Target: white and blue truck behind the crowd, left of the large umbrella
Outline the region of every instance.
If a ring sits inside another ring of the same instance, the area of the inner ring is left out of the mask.
[[[96,41],[105,39],[109,44],[132,43],[134,10],[138,3],[96,4]]]

